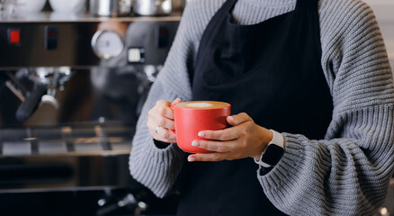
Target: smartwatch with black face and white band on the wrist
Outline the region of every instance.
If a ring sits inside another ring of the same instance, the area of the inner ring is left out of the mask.
[[[281,160],[284,154],[284,138],[281,133],[273,131],[273,139],[268,143],[267,148],[261,153],[259,159],[255,159],[255,163],[266,168],[275,166]]]

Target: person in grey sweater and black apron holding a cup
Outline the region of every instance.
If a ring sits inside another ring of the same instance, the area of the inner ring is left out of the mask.
[[[179,193],[177,215],[373,215],[394,165],[393,86],[360,0],[190,1],[130,174],[158,197]],[[230,103],[231,127],[201,131],[209,140],[193,145],[213,152],[187,154],[170,106],[201,100]],[[282,153],[265,152],[273,136]]]

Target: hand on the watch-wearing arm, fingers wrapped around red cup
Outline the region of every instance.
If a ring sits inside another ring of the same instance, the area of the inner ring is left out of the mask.
[[[193,140],[192,145],[212,153],[193,154],[188,161],[219,161],[245,157],[259,158],[268,142],[273,139],[273,132],[257,124],[245,112],[228,116],[230,125],[234,127],[224,130],[203,130],[201,138],[210,140]]]

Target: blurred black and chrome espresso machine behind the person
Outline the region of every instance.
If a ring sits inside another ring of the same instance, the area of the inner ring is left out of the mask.
[[[173,211],[176,198],[154,198],[128,160],[179,21],[0,20],[0,214]]]

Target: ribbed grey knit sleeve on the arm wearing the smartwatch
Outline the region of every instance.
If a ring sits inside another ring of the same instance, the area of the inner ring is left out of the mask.
[[[290,215],[373,215],[394,166],[389,59],[367,4],[322,1],[320,22],[322,65],[334,101],[326,138],[284,131],[284,156],[257,177],[270,201]]]

